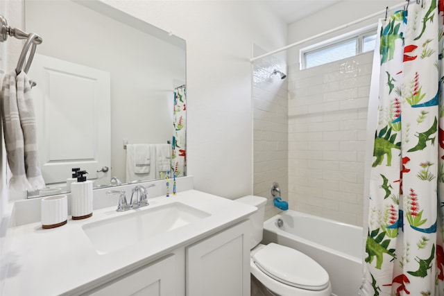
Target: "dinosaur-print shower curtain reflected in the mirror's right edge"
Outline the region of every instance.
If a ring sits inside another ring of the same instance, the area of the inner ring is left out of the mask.
[[[176,177],[187,174],[187,88],[174,89],[173,145],[171,152],[172,171]],[[171,176],[173,177],[173,176]]]

